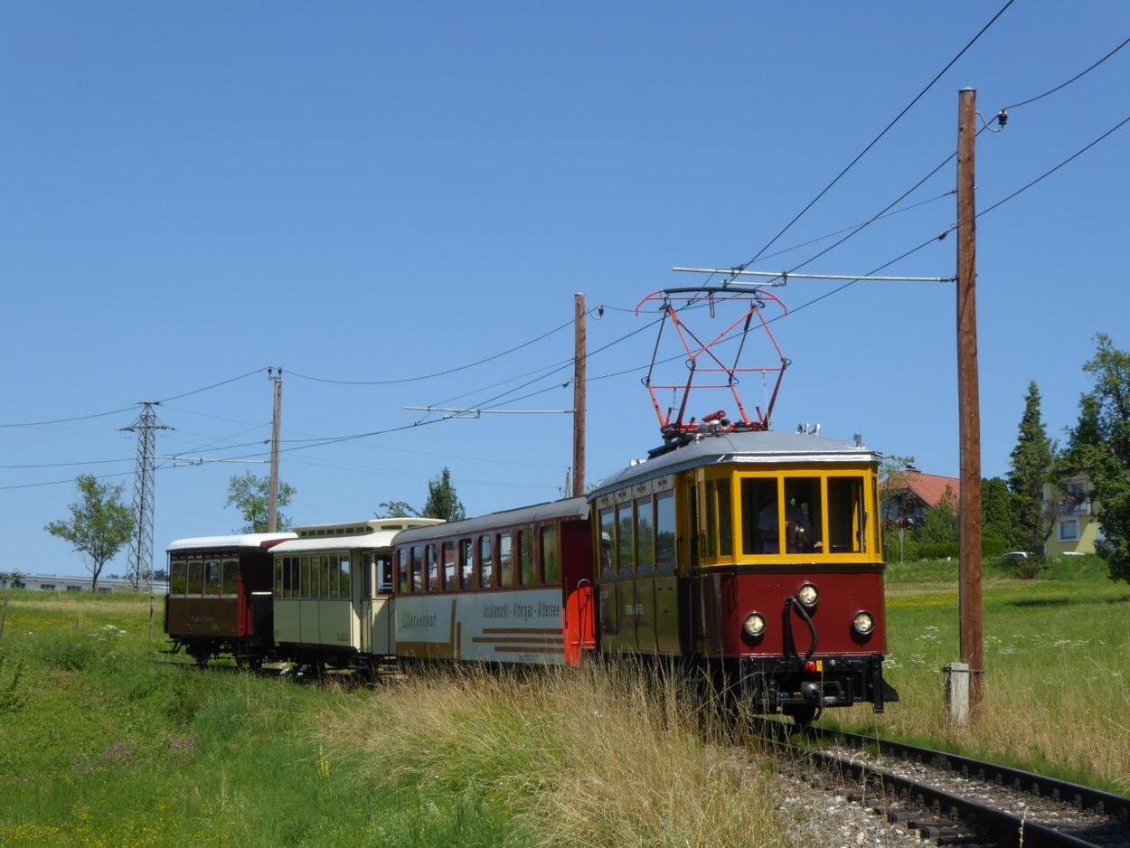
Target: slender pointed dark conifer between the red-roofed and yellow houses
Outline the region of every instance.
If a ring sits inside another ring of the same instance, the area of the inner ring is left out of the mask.
[[[1037,560],[1043,559],[1044,539],[1050,529],[1044,510],[1044,483],[1049,479],[1054,455],[1055,447],[1048,439],[1040,414],[1040,388],[1032,380],[1010,457],[1008,487],[1014,495],[1015,540]]]

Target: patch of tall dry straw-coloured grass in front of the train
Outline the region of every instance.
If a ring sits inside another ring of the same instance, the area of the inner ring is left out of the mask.
[[[435,672],[342,699],[319,725],[374,778],[481,796],[538,846],[782,845],[770,780],[734,769],[740,733],[638,668]]]

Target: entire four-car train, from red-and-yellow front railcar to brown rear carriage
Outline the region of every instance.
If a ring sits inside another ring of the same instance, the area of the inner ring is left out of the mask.
[[[586,499],[179,542],[166,629],[205,660],[655,657],[801,722],[860,702],[881,711],[898,695],[883,678],[878,458],[815,434],[704,426]],[[225,551],[245,563],[238,588]],[[209,631],[206,611],[225,599],[242,612]]]

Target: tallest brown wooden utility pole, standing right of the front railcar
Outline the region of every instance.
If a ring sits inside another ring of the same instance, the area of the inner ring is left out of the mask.
[[[976,716],[984,673],[981,630],[981,400],[977,380],[977,263],[974,158],[977,93],[963,88],[957,110],[957,405],[960,441],[962,661],[970,666],[970,707]]]

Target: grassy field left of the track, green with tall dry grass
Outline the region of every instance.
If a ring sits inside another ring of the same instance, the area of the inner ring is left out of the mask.
[[[671,686],[201,673],[147,621],[144,598],[11,592],[0,845],[783,845],[766,778]]]

